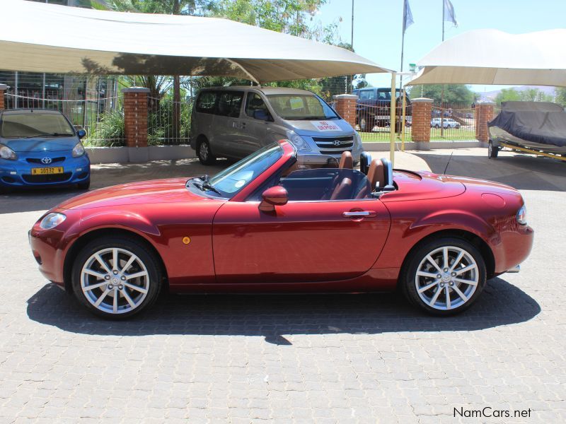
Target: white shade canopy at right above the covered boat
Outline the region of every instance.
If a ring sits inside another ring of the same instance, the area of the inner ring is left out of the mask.
[[[508,34],[473,30],[446,40],[417,62],[410,85],[566,86],[566,30]]]

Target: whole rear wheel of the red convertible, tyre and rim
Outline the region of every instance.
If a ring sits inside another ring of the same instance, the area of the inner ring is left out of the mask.
[[[429,314],[452,315],[473,305],[487,273],[482,255],[470,242],[441,237],[417,247],[400,278],[412,304]]]

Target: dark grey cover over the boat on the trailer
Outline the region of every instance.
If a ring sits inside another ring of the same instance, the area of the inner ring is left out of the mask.
[[[534,143],[566,146],[566,112],[550,102],[502,102],[501,112],[488,126]]]

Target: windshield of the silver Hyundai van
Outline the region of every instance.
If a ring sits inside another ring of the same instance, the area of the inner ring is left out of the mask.
[[[283,119],[340,119],[324,100],[313,94],[271,94],[267,98]]]

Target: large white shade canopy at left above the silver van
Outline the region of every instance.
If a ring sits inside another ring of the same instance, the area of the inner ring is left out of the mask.
[[[390,72],[346,49],[226,19],[3,0],[0,69],[208,75],[259,83]],[[0,81],[1,82],[1,81]]]

